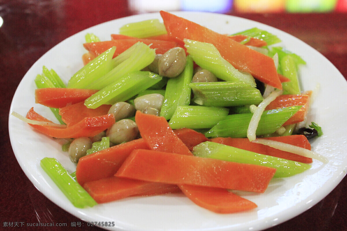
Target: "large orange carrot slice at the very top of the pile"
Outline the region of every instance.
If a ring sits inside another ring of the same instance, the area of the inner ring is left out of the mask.
[[[160,11],[169,36],[180,39],[191,39],[199,42],[211,43],[222,57],[236,69],[251,73],[254,78],[282,89],[276,66],[271,57],[254,51],[240,44],[227,35],[214,32],[206,27],[193,23],[187,19]]]

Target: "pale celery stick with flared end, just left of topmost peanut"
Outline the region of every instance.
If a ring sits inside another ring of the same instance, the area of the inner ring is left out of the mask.
[[[153,62],[154,57],[154,49],[151,49],[144,43],[137,42],[134,51],[131,53],[128,59],[119,63],[107,74],[90,83],[87,88],[100,90],[130,72],[142,70]]]

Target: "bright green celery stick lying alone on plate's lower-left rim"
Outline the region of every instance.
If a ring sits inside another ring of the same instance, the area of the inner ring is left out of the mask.
[[[97,204],[55,158],[43,158],[40,166],[75,207],[92,207]]]

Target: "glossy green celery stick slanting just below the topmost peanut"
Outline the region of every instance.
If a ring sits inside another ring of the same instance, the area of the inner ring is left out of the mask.
[[[159,82],[161,78],[160,75],[149,71],[131,72],[87,98],[84,105],[95,109],[103,104],[126,101]]]

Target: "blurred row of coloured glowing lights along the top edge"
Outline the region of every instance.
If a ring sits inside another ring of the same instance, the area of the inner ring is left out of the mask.
[[[129,0],[135,12],[159,10],[218,13],[347,12],[347,0]]]

